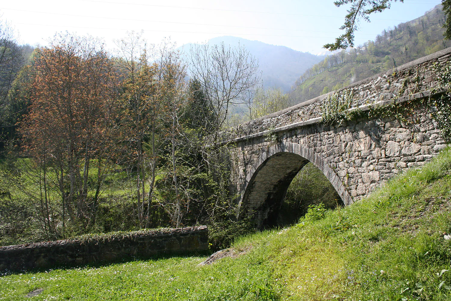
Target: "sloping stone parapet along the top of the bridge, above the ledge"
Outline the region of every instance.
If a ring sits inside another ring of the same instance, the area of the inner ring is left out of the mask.
[[[332,91],[293,107],[245,122],[230,131],[223,132],[220,140],[229,142],[249,139],[255,135],[266,134],[268,131],[278,132],[288,128],[321,122],[322,104],[334,93],[339,95],[351,93],[353,95],[351,110],[355,108],[364,110],[368,106],[387,102],[405,102],[428,97],[431,89],[436,87],[438,82],[434,74],[433,65],[445,65],[450,60],[450,57],[451,47],[373,75],[337,91]]]

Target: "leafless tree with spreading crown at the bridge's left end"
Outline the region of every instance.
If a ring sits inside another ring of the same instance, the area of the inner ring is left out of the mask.
[[[209,191],[202,188],[206,200],[203,210],[210,220],[219,212],[234,216],[233,197],[228,194],[230,162],[227,157],[230,154],[227,147],[218,145],[219,133],[227,125],[233,108],[249,102],[249,96],[260,81],[258,60],[241,45],[194,45],[190,49],[189,75],[193,80],[192,88],[197,90],[193,91],[193,96],[202,97],[199,103],[212,110],[212,114],[202,118],[205,126],[197,146],[202,154],[199,166],[204,165],[206,172],[202,186],[210,187]]]

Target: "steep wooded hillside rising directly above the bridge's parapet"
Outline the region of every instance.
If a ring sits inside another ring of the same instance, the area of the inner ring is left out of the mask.
[[[443,39],[441,5],[423,16],[385,29],[374,41],[327,56],[296,81],[296,103],[345,87],[374,74],[451,46]]]

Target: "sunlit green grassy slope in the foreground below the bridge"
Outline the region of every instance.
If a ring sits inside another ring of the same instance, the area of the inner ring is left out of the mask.
[[[12,274],[0,300],[450,300],[451,150],[347,208],[310,211],[282,231],[243,237],[252,250]]]

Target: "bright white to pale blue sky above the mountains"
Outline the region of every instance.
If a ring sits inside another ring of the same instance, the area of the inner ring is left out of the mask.
[[[423,15],[440,0],[405,0],[363,22],[356,45],[373,39],[384,28]],[[127,31],[144,30],[150,43],[170,37],[181,46],[231,35],[298,51],[319,53],[340,34],[346,8],[333,0],[0,0],[20,41],[46,45],[55,32],[76,32],[105,40]]]

